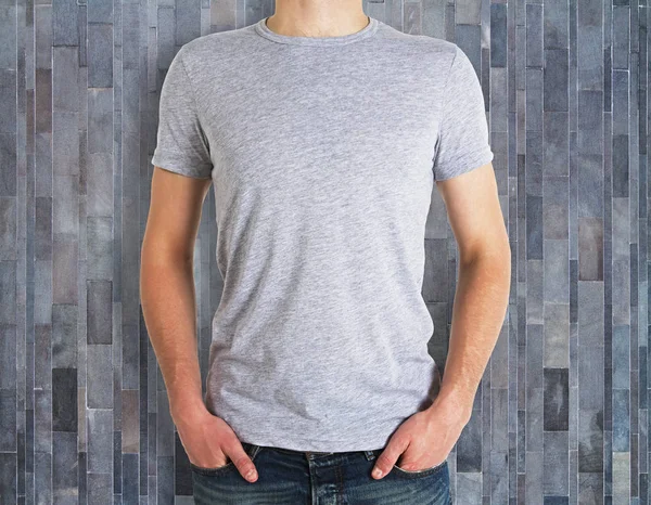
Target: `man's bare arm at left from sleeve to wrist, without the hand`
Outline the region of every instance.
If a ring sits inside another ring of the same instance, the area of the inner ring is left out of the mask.
[[[154,167],[141,250],[142,311],[175,423],[203,407],[192,259],[209,183]]]

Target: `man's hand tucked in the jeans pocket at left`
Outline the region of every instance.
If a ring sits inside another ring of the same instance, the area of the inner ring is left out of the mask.
[[[232,461],[244,479],[250,482],[257,480],[253,461],[221,417],[204,407],[176,417],[175,424],[190,463],[204,468],[218,468]]]

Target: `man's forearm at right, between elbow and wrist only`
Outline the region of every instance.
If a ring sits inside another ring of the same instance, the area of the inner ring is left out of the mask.
[[[467,420],[503,324],[511,282],[510,251],[478,255],[459,267],[445,373],[436,403]]]

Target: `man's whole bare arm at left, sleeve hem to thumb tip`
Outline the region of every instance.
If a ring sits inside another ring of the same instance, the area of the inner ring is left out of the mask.
[[[203,402],[196,349],[193,252],[210,179],[154,167],[141,251],[140,298],[165,380],[169,410],[190,463],[217,468],[232,461],[248,481],[255,465],[232,428]]]

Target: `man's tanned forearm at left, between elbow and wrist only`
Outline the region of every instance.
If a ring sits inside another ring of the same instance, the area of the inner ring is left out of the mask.
[[[203,409],[192,263],[148,259],[143,254],[140,286],[142,312],[173,417]]]

